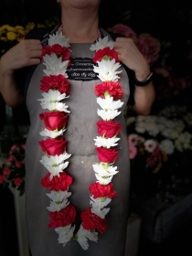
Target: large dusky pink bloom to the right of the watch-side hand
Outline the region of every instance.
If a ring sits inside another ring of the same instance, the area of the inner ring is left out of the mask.
[[[138,37],[137,48],[149,64],[153,64],[159,57],[160,44],[155,37],[149,34],[141,34]]]

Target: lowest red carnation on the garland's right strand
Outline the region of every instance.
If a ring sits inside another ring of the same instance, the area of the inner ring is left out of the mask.
[[[91,212],[91,208],[84,210],[80,214],[82,220],[83,229],[98,229],[100,233],[103,233],[107,229],[107,220],[101,219],[99,216]]]

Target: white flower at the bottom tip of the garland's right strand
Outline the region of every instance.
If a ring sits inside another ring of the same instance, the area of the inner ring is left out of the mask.
[[[97,235],[97,232],[83,229],[83,227],[80,225],[80,229],[77,232],[77,240],[83,250],[88,250],[88,239],[96,242],[98,240]]]

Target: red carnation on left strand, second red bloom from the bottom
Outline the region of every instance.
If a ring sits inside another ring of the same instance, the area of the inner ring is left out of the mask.
[[[72,183],[72,177],[68,176],[66,172],[62,172],[60,176],[53,176],[50,180],[50,174],[48,173],[41,179],[41,185],[47,187],[50,191],[66,191]]]

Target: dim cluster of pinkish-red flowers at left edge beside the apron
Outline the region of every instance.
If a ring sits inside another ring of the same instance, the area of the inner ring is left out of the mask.
[[[6,164],[0,166],[0,185],[14,187],[22,196],[25,192],[25,144],[14,144]]]

